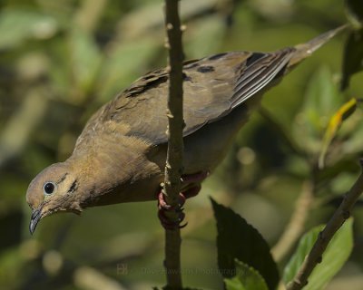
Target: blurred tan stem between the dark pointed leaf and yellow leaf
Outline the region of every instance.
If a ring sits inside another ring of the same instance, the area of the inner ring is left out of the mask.
[[[309,208],[314,197],[314,182],[308,179],[302,185],[301,193],[295,204],[295,210],[289,220],[288,226],[282,233],[279,241],[271,249],[275,261],[280,260],[289,253],[291,247],[297,242],[304,230],[304,225],[309,217]]]

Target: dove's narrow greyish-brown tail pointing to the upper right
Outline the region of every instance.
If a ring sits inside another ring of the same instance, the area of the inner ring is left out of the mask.
[[[303,59],[309,57],[311,53],[314,53],[321,45],[329,42],[330,38],[338,34],[340,31],[346,29],[348,25],[349,24],[341,25],[338,28],[329,30],[329,32],[315,37],[307,43],[295,45],[294,47],[296,51],[291,56],[288,67],[290,68],[295,64],[300,63]]]

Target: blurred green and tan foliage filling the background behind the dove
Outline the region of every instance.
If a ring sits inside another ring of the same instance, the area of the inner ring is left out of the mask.
[[[181,4],[187,59],[280,49],[346,22],[338,0]],[[162,2],[2,0],[0,7],[0,289],[163,285],[163,230],[155,202],[91,208],[81,218],[55,215],[42,221],[34,237],[25,202],[30,180],[72,153],[94,111],[143,73],[165,65]],[[362,73],[356,73],[338,92],[345,39],[335,37],[266,93],[262,106],[268,113],[253,115],[201,194],[188,201],[184,285],[223,287],[208,196],[231,206],[273,245],[304,180],[315,183],[308,230],[327,221],[334,210],[329,201],[356,179],[363,133],[359,104],[331,140],[325,168],[313,166],[329,119],[363,91]],[[358,207],[352,214],[356,247],[330,290],[342,283],[360,289],[363,283],[363,213]],[[286,262],[280,261],[280,269]]]

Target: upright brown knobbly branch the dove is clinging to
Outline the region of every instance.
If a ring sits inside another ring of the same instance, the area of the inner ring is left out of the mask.
[[[182,175],[182,29],[179,19],[179,0],[165,0],[165,26],[168,35],[166,47],[169,50],[169,98],[167,116],[169,126],[168,153],[165,166],[164,195],[167,204],[179,204]],[[167,218],[177,223],[179,214],[166,212]],[[165,267],[167,286],[182,288],[180,229],[165,229]]]

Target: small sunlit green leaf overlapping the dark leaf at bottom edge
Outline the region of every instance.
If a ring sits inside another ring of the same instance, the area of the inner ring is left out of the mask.
[[[258,271],[238,259],[235,259],[234,262],[237,275],[224,279],[227,290],[269,290]]]

